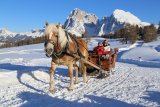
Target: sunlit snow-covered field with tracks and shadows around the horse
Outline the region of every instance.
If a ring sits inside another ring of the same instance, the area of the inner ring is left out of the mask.
[[[89,49],[103,39],[93,38]],[[88,77],[68,91],[67,68],[55,73],[56,92],[49,92],[50,58],[43,44],[0,49],[0,107],[132,107],[160,106],[160,40],[138,41],[119,48],[114,74],[105,79]]]

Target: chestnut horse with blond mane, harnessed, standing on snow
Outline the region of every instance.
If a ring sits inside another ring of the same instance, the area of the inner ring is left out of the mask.
[[[78,65],[79,61],[81,73],[83,76],[83,82],[87,82],[86,64],[80,60],[88,60],[88,49],[86,42],[81,38],[75,38],[74,35],[69,34],[60,24],[48,24],[45,25],[44,36],[45,53],[47,57],[51,57],[50,67],[50,92],[55,92],[55,80],[54,72],[58,65],[65,65],[68,67],[70,85],[69,90],[74,89],[74,84],[78,83]],[[77,58],[75,56],[79,56]],[[73,78],[73,68],[76,71],[75,82]]]

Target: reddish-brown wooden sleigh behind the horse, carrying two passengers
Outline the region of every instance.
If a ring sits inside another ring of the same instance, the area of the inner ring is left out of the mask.
[[[99,56],[95,50],[88,51],[88,61],[92,64],[87,65],[87,74],[90,76],[107,77],[115,68],[118,48],[111,49],[109,56],[106,54]]]

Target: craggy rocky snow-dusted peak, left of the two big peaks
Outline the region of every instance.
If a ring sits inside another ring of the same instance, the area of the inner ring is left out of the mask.
[[[98,26],[98,17],[95,14],[81,11],[80,9],[74,9],[65,24],[67,31],[81,36],[87,30],[90,35],[95,35],[95,29]]]

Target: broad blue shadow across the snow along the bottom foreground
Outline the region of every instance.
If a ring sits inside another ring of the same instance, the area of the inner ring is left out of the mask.
[[[90,99],[89,102],[79,102],[79,100],[68,101],[51,97],[45,94],[22,92],[18,95],[22,101],[25,101],[21,107],[143,107],[141,105],[129,104],[116,99],[85,95],[84,98]]]

